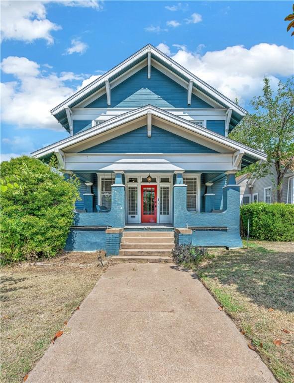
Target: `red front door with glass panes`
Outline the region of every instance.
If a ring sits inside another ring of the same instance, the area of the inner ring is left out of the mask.
[[[141,222],[156,223],[156,185],[141,186]]]

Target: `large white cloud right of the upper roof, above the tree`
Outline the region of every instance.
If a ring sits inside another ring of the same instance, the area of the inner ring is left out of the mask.
[[[283,45],[261,43],[250,49],[235,45],[203,55],[182,48],[171,53],[163,43],[157,47],[231,100],[237,97],[242,105],[260,94],[264,76],[276,87],[279,76],[294,73],[294,49]]]

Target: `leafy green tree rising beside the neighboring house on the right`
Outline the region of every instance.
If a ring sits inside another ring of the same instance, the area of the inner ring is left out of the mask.
[[[269,174],[272,164],[277,172],[278,202],[283,198],[283,179],[294,167],[294,77],[278,84],[276,92],[268,78],[264,79],[262,96],[251,101],[254,113],[246,115],[229,137],[266,153],[266,164],[248,168],[253,178]]]

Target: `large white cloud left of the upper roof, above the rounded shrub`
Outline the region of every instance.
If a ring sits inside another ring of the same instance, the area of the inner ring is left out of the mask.
[[[19,128],[62,131],[50,109],[71,96],[87,75],[44,74],[38,68],[39,64],[25,57],[9,56],[2,60],[2,71],[15,80],[1,83],[1,120]]]

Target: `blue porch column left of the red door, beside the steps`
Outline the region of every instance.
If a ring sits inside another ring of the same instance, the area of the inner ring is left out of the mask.
[[[115,220],[112,227],[125,226],[125,185],[123,185],[123,173],[123,171],[114,171],[115,180],[114,184],[111,185],[111,212],[115,212]]]

